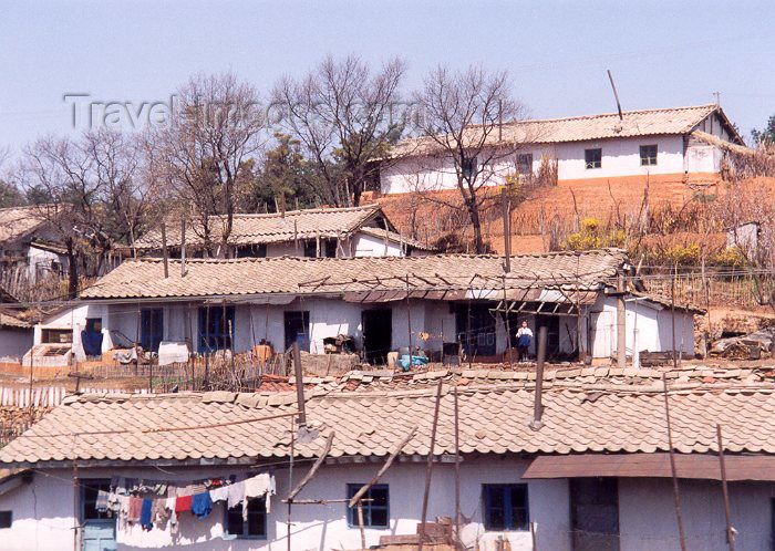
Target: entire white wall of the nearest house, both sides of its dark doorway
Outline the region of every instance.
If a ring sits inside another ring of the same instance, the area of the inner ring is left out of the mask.
[[[483,526],[483,484],[527,484],[529,520],[536,523],[538,549],[570,550],[570,498],[568,482],[558,480],[520,480],[528,459],[468,458],[461,466],[462,512],[469,522],[463,530],[468,545],[478,543],[483,551],[494,550],[495,541],[505,538],[512,549],[533,549],[528,531],[490,532]],[[371,479],[381,464],[349,464],[324,466],[298,496],[299,499],[342,499],[348,484]],[[293,480],[298,481],[307,466],[297,465]],[[84,469],[81,477],[110,478],[113,475],[146,479],[187,481],[210,476],[244,472],[242,467],[175,469],[164,472],[153,468]],[[254,471],[255,472],[255,471]],[[390,527],[365,529],[366,544],[379,542],[383,534],[415,533],[421,517],[425,464],[396,462],[384,475],[389,485]],[[138,527],[117,531],[118,549],[172,549],[185,547],[192,551],[287,549],[287,509],[279,499],[287,495],[286,469],[275,471],[278,496],[272,498],[266,540],[224,540],[223,506],[216,505],[205,519],[182,516],[178,536],[168,530],[144,532]],[[0,496],[0,510],[11,510],[13,523],[0,529],[2,549],[9,551],[59,551],[73,544],[72,470],[38,471],[29,486]],[[724,507],[717,481],[679,481],[681,508],[689,549],[724,550]],[[775,488],[767,482],[730,484],[732,523],[737,530],[741,551],[771,549],[772,511]],[[428,519],[454,516],[454,466],[436,464],[428,503]],[[358,549],[360,532],[347,523],[344,503],[296,506],[292,509],[292,547],[299,550]],[[619,479],[619,534],[622,551],[661,549],[679,550],[678,529],[670,479]]]

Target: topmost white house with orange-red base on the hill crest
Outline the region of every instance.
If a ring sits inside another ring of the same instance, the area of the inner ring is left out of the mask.
[[[558,184],[571,188],[641,183],[647,175],[653,184],[709,183],[720,178],[725,144],[742,145],[743,139],[719,105],[626,111],[621,118],[608,113],[519,121],[492,133],[492,147],[505,150],[494,155],[496,166],[474,159],[466,169],[493,186],[507,176],[530,177],[546,162],[556,163]],[[456,188],[452,159],[428,138],[400,143],[381,165],[383,195]]]

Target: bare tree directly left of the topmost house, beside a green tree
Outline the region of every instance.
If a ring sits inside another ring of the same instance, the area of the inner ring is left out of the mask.
[[[366,181],[401,137],[403,121],[394,117],[404,63],[395,59],[373,71],[351,55],[327,58],[301,80],[282,79],[272,94],[280,126],[303,145],[316,168],[309,186],[321,202],[359,205]]]

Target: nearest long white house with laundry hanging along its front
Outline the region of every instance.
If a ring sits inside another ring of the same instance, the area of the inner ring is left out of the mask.
[[[721,425],[737,549],[769,549],[772,381],[707,382],[705,373],[664,372],[669,381],[685,381],[668,402],[689,548],[726,549]],[[0,467],[13,469],[0,481],[2,547],[328,551],[363,549],[362,537],[365,548],[383,537],[411,537],[422,518],[441,381],[428,521],[456,517],[459,487],[459,534],[467,549],[676,550],[662,374],[547,373],[540,418],[535,383],[515,377],[487,382],[476,372],[437,372],[411,391],[397,380],[373,391],[368,387],[375,382],[356,391],[324,382],[306,393],[311,441],[297,438],[292,445],[292,388],[73,395],[0,450]],[[287,507],[282,500],[328,438],[326,461]],[[359,522],[347,499],[394,451],[397,460],[366,495]],[[245,501],[244,517],[245,479],[262,475],[272,477],[276,492]],[[219,500],[224,492],[214,480],[226,485],[227,495],[236,489],[232,507]],[[177,509],[174,521],[170,509]]]

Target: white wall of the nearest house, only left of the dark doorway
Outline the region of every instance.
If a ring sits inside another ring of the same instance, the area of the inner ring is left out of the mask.
[[[520,474],[527,459],[472,459],[461,466],[461,508],[471,523],[465,526],[464,538],[479,549],[494,550],[494,541],[500,537],[512,543],[512,549],[533,549],[529,531],[488,532],[483,527],[482,485],[520,484]],[[370,480],[381,464],[349,464],[324,466],[299,493],[299,499],[342,499],[348,484]],[[293,480],[298,482],[308,467],[297,466]],[[113,475],[146,479],[193,480],[209,476],[225,476],[244,471],[239,467],[209,469],[81,469],[86,478],[110,478]],[[2,549],[9,551],[59,551],[72,549],[73,542],[73,485],[71,470],[53,470],[37,474],[32,485],[23,486],[0,496],[0,510],[13,511],[13,524],[0,530]],[[46,476],[48,475],[48,476]],[[381,484],[389,485],[390,527],[365,529],[366,545],[374,545],[384,534],[411,534],[416,532],[421,519],[425,462],[396,462],[384,475]],[[182,516],[179,534],[173,539],[168,530],[142,531],[131,527],[117,531],[118,549],[170,549],[185,547],[192,551],[256,550],[285,551],[287,508],[279,502],[290,487],[287,470],[276,471],[278,496],[272,499],[267,522],[267,540],[224,540],[223,506],[216,505],[205,519]],[[537,522],[538,544],[541,549],[569,550],[568,485],[565,480],[531,480],[527,482],[529,520]],[[454,466],[436,464],[431,486],[430,520],[438,516],[454,517]],[[345,505],[296,506],[292,509],[291,542],[294,550],[358,549],[360,531],[347,523]]]

